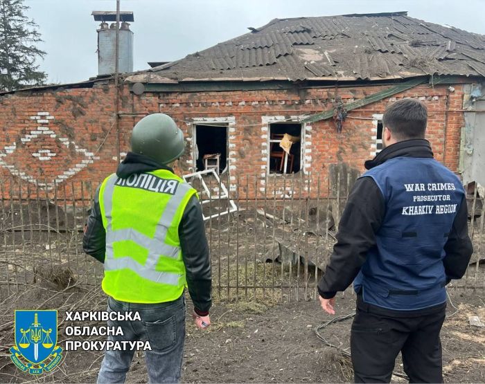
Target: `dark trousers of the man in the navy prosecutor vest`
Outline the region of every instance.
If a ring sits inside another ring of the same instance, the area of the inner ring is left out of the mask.
[[[446,304],[426,314],[408,312],[409,316],[375,313],[372,307],[358,300],[352,324],[355,383],[389,383],[399,351],[409,383],[443,383],[439,332]]]

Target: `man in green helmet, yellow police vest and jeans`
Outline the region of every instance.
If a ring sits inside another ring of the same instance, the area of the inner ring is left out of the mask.
[[[197,327],[211,324],[209,247],[197,192],[173,172],[185,148],[173,119],[145,116],[131,146],[96,191],[82,241],[104,264],[109,296],[112,331],[98,383],[123,383],[142,346],[150,382],[174,383],[182,369],[185,286]]]

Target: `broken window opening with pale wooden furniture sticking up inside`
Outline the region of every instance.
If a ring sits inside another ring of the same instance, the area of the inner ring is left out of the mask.
[[[271,124],[269,136],[269,173],[299,172],[301,170],[301,124]]]

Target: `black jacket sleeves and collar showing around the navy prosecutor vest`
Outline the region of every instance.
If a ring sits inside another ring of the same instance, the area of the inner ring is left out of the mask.
[[[427,140],[405,140],[389,145],[373,160],[366,161],[370,170],[385,161],[399,156],[432,158]],[[337,244],[326,271],[318,284],[322,298],[333,298],[337,291],[345,291],[358,275],[366,261],[367,250],[376,245],[376,233],[385,216],[385,201],[378,185],[371,177],[362,177],[355,182],[349,200],[340,219]],[[443,259],[447,281],[463,277],[473,246],[468,237],[468,212],[466,201],[461,202],[452,232],[444,247]]]

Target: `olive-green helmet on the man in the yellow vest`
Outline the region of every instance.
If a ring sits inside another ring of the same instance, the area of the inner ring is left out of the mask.
[[[182,130],[164,113],[145,116],[133,128],[132,152],[148,156],[157,163],[177,160],[184,149]]]

